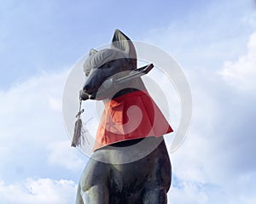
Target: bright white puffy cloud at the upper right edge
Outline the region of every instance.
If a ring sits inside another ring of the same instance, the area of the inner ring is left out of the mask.
[[[225,82],[243,91],[256,90],[256,31],[247,43],[247,54],[236,61],[226,61],[224,69],[219,71]]]

